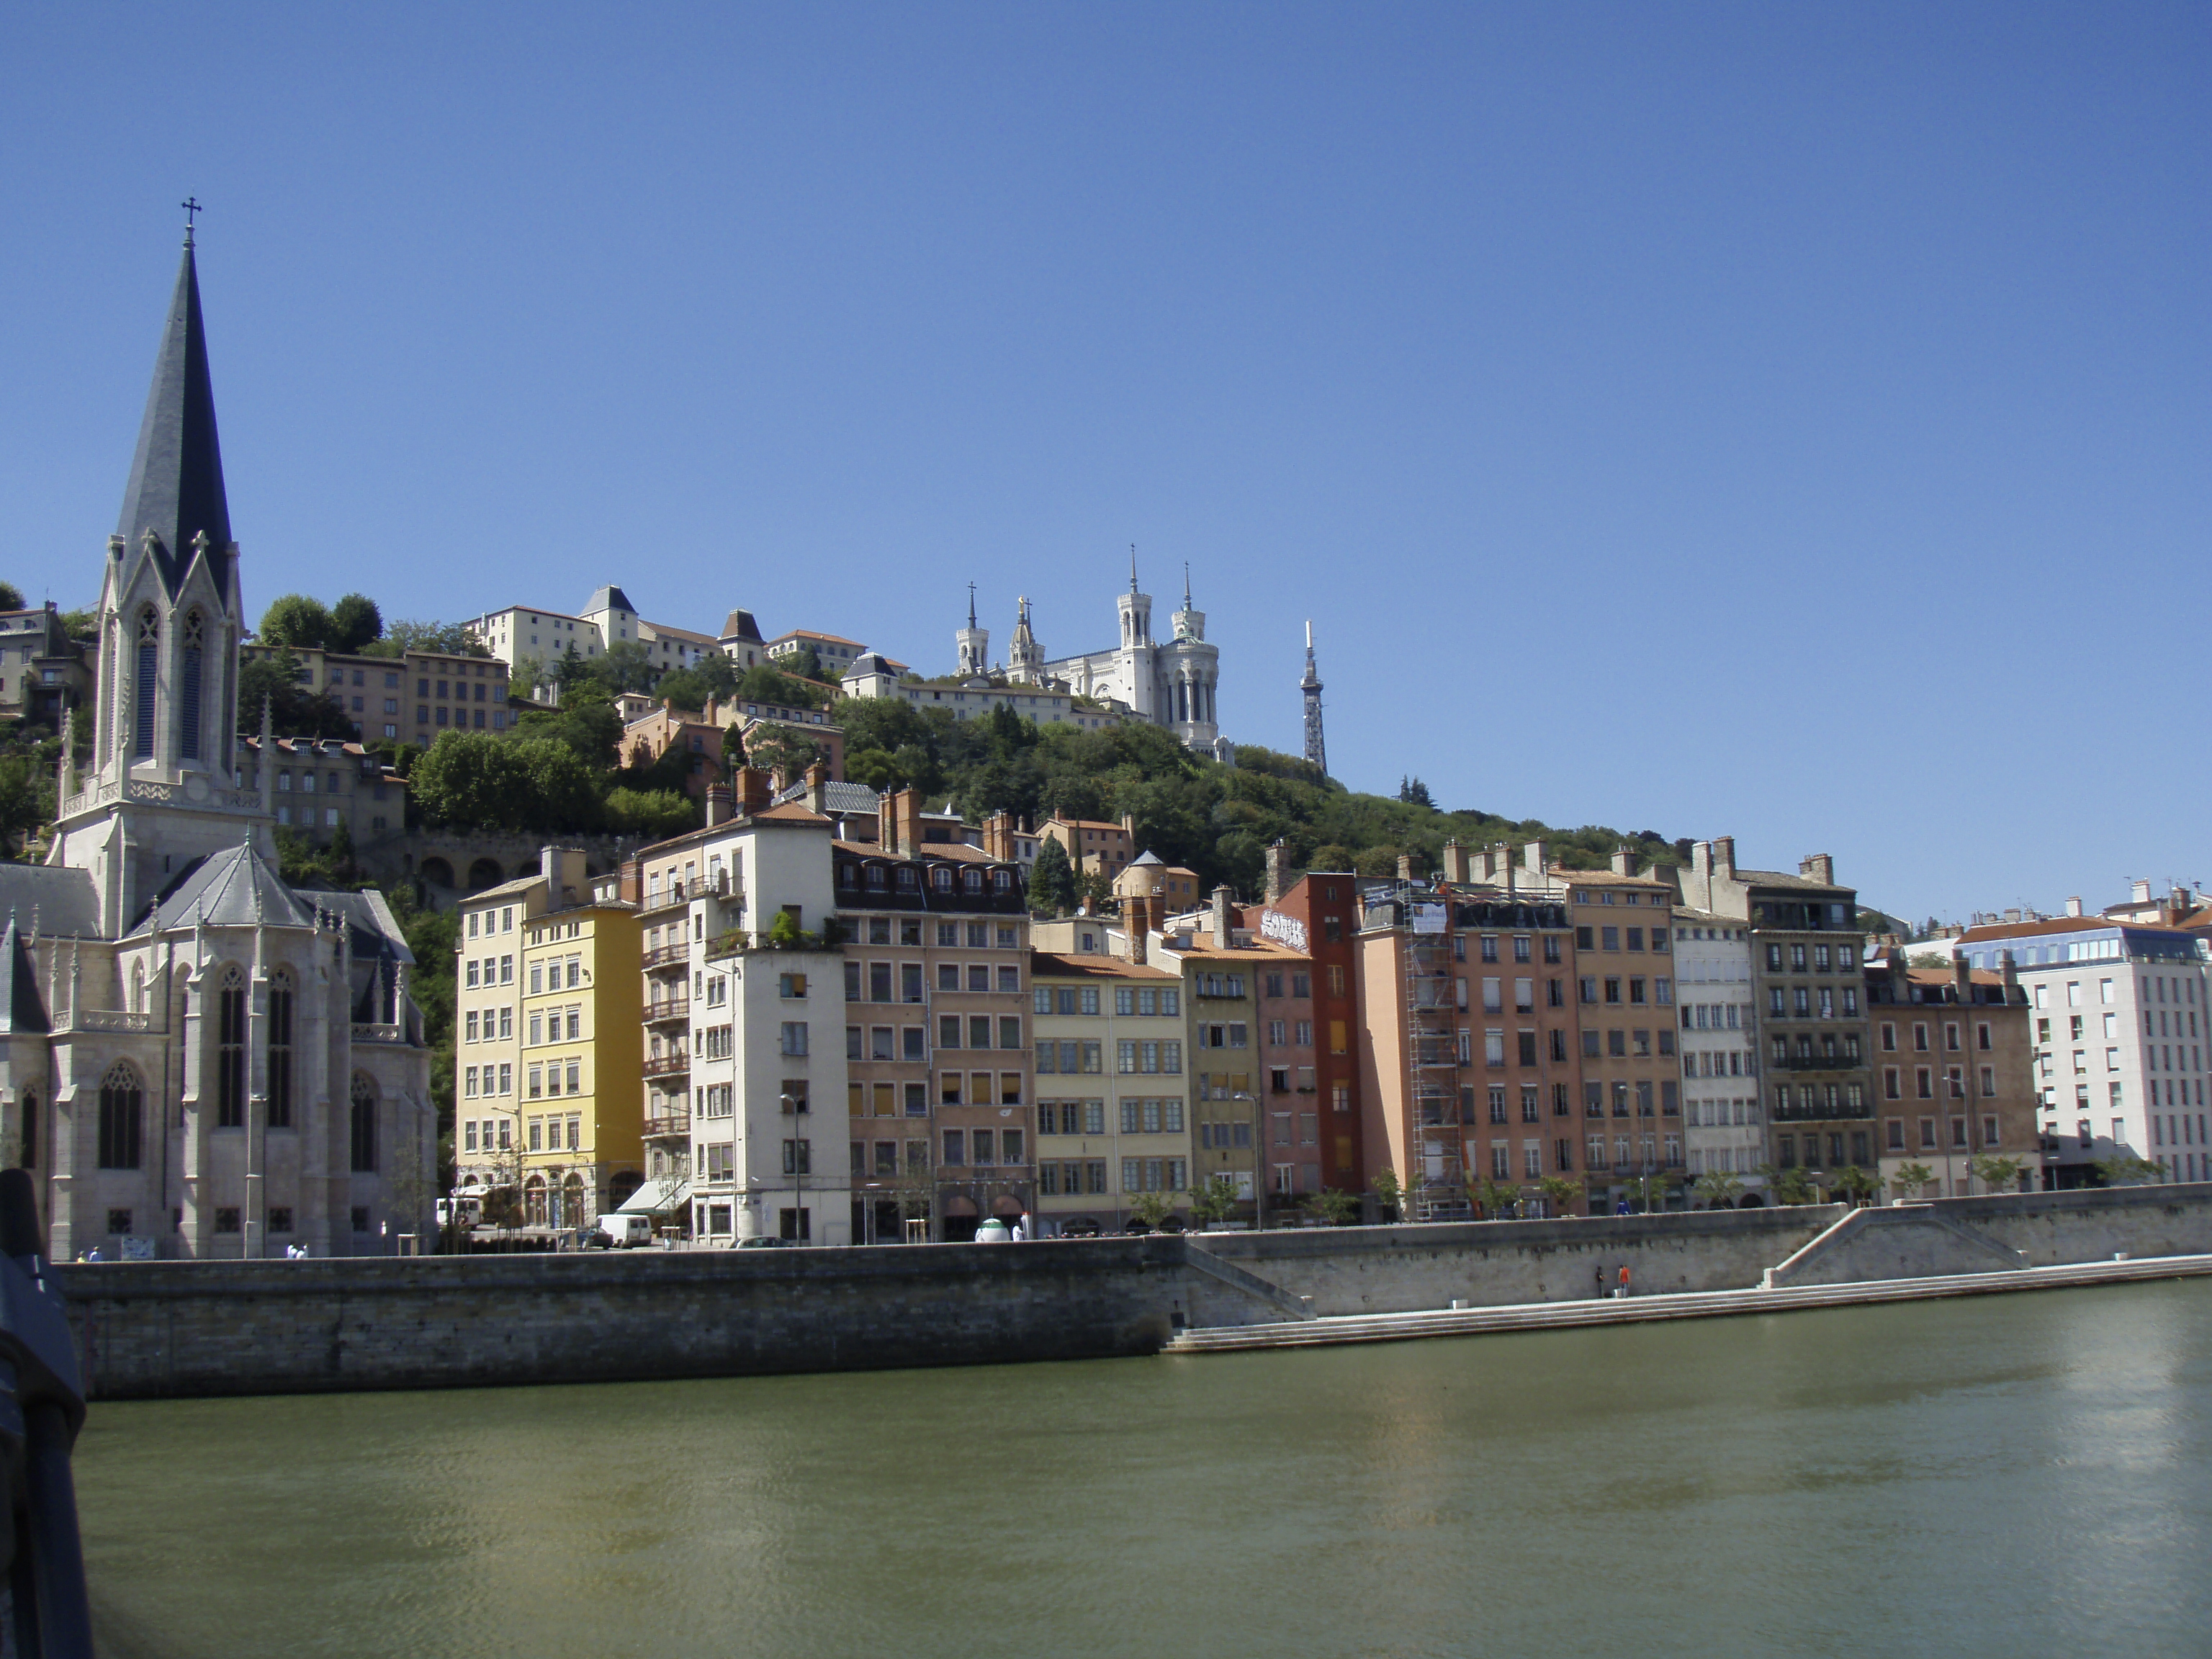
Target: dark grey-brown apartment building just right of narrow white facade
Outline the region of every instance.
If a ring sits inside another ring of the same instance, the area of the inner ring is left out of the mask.
[[[1845,1168],[1876,1172],[1874,1073],[1867,1057],[1858,894],[1814,854],[1798,874],[1739,869],[1734,838],[1699,841],[1674,869],[1681,902],[1752,936],[1752,1000],[1765,1044],[1767,1161],[1834,1188]]]

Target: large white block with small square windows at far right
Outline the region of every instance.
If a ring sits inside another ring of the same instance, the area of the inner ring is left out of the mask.
[[[1978,971],[2011,953],[2028,991],[2051,1181],[2099,1186],[2099,1164],[2148,1159],[2212,1177],[2205,1139],[2208,940],[2190,927],[2059,916],[1969,927],[1951,940]]]

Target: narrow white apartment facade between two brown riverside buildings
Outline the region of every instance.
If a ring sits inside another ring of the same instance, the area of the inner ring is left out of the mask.
[[[1674,909],[1674,1011],[1681,1046],[1681,1133],[1692,1181],[1728,1175],[1743,1203],[1772,1203],[1759,1088],[1759,1004],[1752,933],[1730,918]]]

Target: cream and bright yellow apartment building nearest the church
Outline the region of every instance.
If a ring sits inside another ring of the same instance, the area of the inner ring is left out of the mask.
[[[460,902],[453,1164],[522,1225],[584,1228],[644,1181],[637,914],[584,854]]]

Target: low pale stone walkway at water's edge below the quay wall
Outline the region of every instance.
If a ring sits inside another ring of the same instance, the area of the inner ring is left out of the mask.
[[[1334,1314],[1283,1325],[1203,1325],[1177,1332],[1166,1354],[1225,1354],[1248,1347],[1318,1347],[1327,1343],[1402,1343],[1416,1336],[1475,1336],[1484,1332],[1544,1332],[1568,1325],[1632,1325],[1646,1318],[1725,1318],[1783,1314],[1798,1307],[1902,1303],[1931,1296],[1991,1296],[2011,1290],[2064,1290],[2141,1279],[2212,1274],[2212,1254],[2088,1261],[2062,1267],[1944,1274],[1938,1279],[1874,1279],[1845,1285],[1776,1285],[1674,1296],[1619,1296],[1573,1303],[1517,1303],[1506,1307],[1447,1307],[1418,1314]]]

